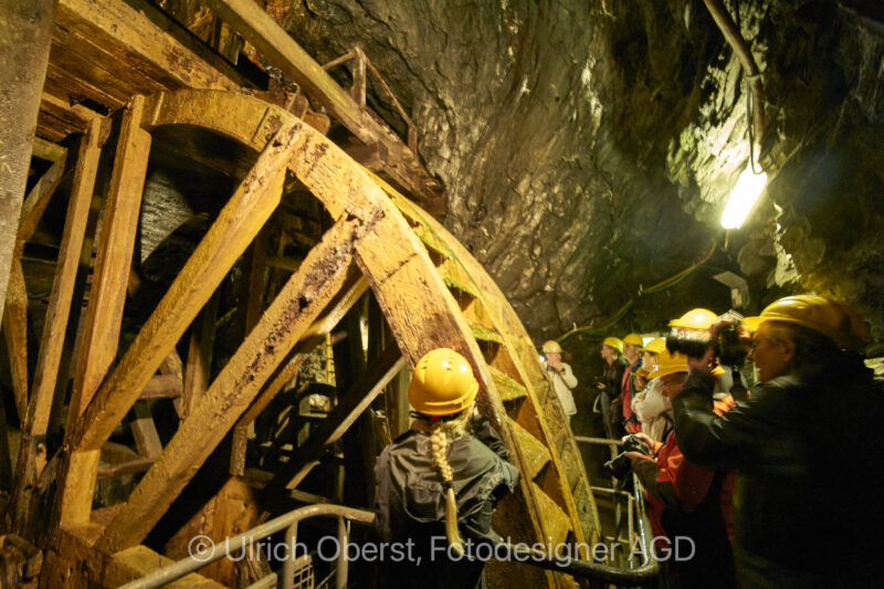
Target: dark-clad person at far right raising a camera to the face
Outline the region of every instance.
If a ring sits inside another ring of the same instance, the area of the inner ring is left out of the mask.
[[[711,348],[688,359],[673,399],[685,457],[739,472],[740,582],[880,586],[873,555],[884,524],[884,461],[869,452],[884,448],[884,391],[863,362],[865,325],[845,305],[812,294],[780,298],[758,322],[749,359],[759,385],[749,399],[713,413]]]

